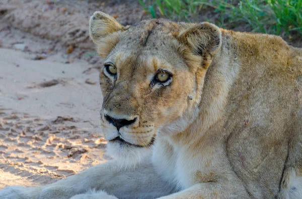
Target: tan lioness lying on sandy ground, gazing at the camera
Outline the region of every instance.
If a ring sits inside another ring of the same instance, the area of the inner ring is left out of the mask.
[[[102,12],[90,35],[116,160],[1,199],[302,198],[302,49],[209,23],[124,27]]]

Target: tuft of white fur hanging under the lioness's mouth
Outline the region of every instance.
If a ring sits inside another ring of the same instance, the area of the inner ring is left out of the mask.
[[[135,167],[140,164],[151,150],[147,147],[120,145],[118,142],[108,142],[106,154],[118,161],[121,168]]]

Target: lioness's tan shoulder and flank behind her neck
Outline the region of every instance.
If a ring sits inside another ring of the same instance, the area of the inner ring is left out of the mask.
[[[223,34],[240,66],[225,109],[228,156],[247,189],[269,197],[302,162],[302,50],[277,36]]]

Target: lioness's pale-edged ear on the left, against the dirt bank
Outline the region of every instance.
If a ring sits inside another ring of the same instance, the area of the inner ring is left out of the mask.
[[[90,37],[94,43],[117,31],[122,31],[123,26],[113,17],[103,13],[95,12],[89,20]]]

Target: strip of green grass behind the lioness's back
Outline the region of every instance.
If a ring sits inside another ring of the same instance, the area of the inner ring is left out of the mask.
[[[177,21],[197,21],[211,10],[208,21],[222,28],[275,35],[302,35],[302,0],[138,0],[153,18]]]

